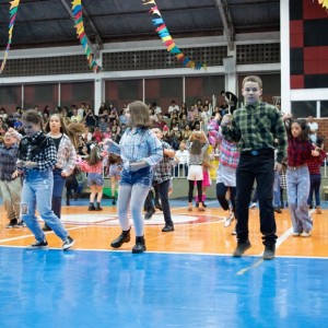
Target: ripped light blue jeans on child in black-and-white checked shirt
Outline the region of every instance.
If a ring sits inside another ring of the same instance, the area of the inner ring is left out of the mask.
[[[69,235],[51,210],[52,188],[52,171],[28,171],[25,174],[21,197],[22,219],[37,242],[43,242],[46,237],[35,215],[36,209],[42,219],[59,238],[66,241]]]

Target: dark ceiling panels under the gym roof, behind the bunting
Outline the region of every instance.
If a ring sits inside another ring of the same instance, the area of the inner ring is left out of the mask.
[[[222,35],[280,30],[279,0],[156,0],[171,35]],[[142,0],[82,0],[93,43],[155,39],[151,5]],[[8,42],[9,0],[0,0],[0,51]],[[79,45],[71,0],[22,0],[11,49]]]

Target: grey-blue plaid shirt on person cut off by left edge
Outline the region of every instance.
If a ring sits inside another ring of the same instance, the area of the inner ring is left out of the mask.
[[[11,181],[11,175],[16,169],[16,161],[19,157],[19,145],[11,147],[0,145],[0,180]]]

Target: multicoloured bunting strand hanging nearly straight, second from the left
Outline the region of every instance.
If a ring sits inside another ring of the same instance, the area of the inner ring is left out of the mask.
[[[102,71],[102,67],[98,66],[95,61],[94,54],[92,54],[87,39],[84,32],[84,24],[83,24],[83,12],[82,12],[82,0],[73,0],[72,2],[72,13],[74,15],[74,26],[77,28],[77,34],[80,39],[80,43],[84,49],[84,54],[86,55],[86,59],[89,62],[89,67],[96,73]]]

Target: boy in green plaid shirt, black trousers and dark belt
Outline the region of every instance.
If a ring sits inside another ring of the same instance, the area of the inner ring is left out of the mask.
[[[229,141],[238,143],[241,160],[236,172],[236,216],[237,247],[233,254],[241,257],[248,248],[248,204],[256,179],[260,231],[265,245],[263,259],[272,259],[276,254],[277,226],[273,212],[274,169],[281,169],[285,156],[286,132],[279,110],[261,101],[262,81],[249,75],[243,81],[242,93],[246,105],[234,112],[233,117],[222,119],[222,134]],[[274,163],[273,140],[278,139],[277,162]]]

